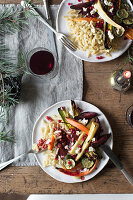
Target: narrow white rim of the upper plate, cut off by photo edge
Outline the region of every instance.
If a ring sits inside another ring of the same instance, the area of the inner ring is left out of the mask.
[[[63,4],[64,4],[64,2],[65,2],[66,0],[62,0],[62,2],[60,3],[60,5],[59,5],[59,8],[58,8],[58,11],[57,11],[57,17],[56,17],[56,31],[58,32],[59,31],[59,23],[58,23],[58,21],[59,21],[59,13],[60,13],[60,9],[61,9],[61,7],[63,6]],[[127,0],[128,2],[129,2],[129,4],[130,4],[130,6],[131,6],[131,1],[130,0]],[[133,10],[133,5],[131,6],[131,9]],[[104,61],[104,60],[97,60],[97,62],[96,61],[89,61],[87,58],[86,59],[82,59],[81,57],[79,57],[78,55],[76,55],[73,51],[71,51],[70,49],[68,49],[68,48],[66,48],[71,54],[73,54],[75,57],[77,57],[78,59],[81,59],[81,60],[83,60],[83,61],[86,61],[86,62],[90,62],[90,63],[102,63],[102,62],[110,62],[110,61],[112,61],[112,60],[115,60],[116,58],[119,58],[121,55],[123,55],[126,51],[127,51],[127,49],[131,46],[131,44],[132,44],[132,40],[130,40],[129,39],[129,42],[128,42],[128,44],[127,44],[127,47],[125,48],[125,50],[124,51],[122,51],[119,55],[117,55],[115,58],[112,58],[112,59],[109,59],[109,60],[106,60],[106,61]],[[104,55],[104,54],[100,54],[100,55]],[[87,56],[86,56],[87,57]]]

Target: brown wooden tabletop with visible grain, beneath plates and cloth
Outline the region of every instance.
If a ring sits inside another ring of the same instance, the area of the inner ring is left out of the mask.
[[[60,3],[61,0],[51,0]],[[19,3],[0,0],[0,3]],[[83,100],[99,107],[107,116],[114,134],[114,152],[133,176],[133,129],[125,121],[125,111],[133,103],[133,91],[121,95],[112,90],[109,78],[117,67],[125,66],[126,54],[107,63],[84,63]],[[39,166],[8,167],[0,172],[0,199],[23,200],[29,194],[133,193],[133,187],[110,161],[92,180],[60,183]]]

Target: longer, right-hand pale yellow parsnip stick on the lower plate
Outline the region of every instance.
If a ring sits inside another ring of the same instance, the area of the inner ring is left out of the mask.
[[[77,157],[75,159],[76,161],[78,161],[81,158],[81,156],[84,154],[85,150],[88,148],[88,146],[91,143],[91,140],[94,137],[98,127],[99,127],[98,123],[92,122],[91,127],[90,127],[90,131],[89,131],[89,135],[86,138],[86,140],[85,140],[85,142],[82,146],[82,151],[77,155]]]

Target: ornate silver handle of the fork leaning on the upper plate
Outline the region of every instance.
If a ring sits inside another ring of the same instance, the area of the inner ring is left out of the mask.
[[[52,26],[50,26],[50,24],[44,18],[41,17],[41,15],[33,8],[33,6],[31,6],[30,4],[28,4],[25,1],[21,1],[21,6],[23,6],[24,8],[26,8],[26,7],[30,8],[29,12],[34,14],[43,24],[45,24],[48,28],[50,28],[51,31],[53,31],[55,34],[57,34],[57,31]]]

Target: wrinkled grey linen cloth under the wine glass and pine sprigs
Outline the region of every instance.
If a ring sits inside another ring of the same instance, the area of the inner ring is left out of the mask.
[[[0,5],[5,7],[19,7],[20,5]],[[58,6],[52,6],[53,22]],[[44,7],[39,11],[45,16]],[[47,27],[36,18],[31,18],[28,28],[13,36],[5,36],[5,43],[17,54],[18,50],[29,52],[36,47],[52,50],[48,38]],[[82,61],[71,55],[60,42],[57,41],[60,71],[50,81],[39,82],[31,75],[22,79],[20,103],[11,109],[8,129],[13,130],[16,143],[0,143],[0,162],[12,159],[32,147],[32,129],[39,115],[52,104],[66,99],[82,99],[83,66]],[[15,162],[16,166],[37,165],[34,155],[28,155]]]

